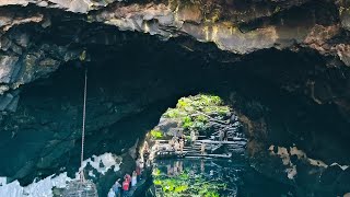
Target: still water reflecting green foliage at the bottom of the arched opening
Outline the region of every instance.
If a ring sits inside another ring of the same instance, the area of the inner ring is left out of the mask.
[[[288,186],[261,176],[244,161],[159,160],[152,174],[154,196],[293,196]]]

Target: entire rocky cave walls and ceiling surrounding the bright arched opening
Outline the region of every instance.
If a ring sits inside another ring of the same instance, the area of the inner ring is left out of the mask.
[[[101,196],[166,109],[200,93],[234,109],[246,162],[271,185],[349,195],[346,2],[0,2],[0,194],[78,172],[86,71],[85,159],[122,158]]]

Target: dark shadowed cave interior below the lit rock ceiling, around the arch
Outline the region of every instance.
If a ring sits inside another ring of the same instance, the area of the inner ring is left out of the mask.
[[[313,86],[313,81],[338,84],[346,79],[329,76],[349,72],[324,70],[325,60],[306,49],[266,49],[241,57],[186,37],[162,42],[95,24],[84,24],[77,33],[70,28],[74,23],[83,22],[69,21],[68,25],[60,21],[37,37],[37,43],[45,43],[55,36],[55,44],[83,48],[86,57],[21,88],[16,112],[3,115],[1,121],[0,153],[7,158],[0,163],[1,176],[19,179],[22,185],[55,173],[68,172],[73,177],[79,166],[86,67],[86,158],[113,152],[120,157],[118,167],[130,171],[133,159],[129,151],[137,139],[142,140],[180,97],[206,93],[219,95],[237,112],[248,139],[245,151],[255,171],[287,184],[288,192],[290,186],[302,194],[346,192],[347,183],[323,187],[318,179],[324,177],[323,170],[313,167],[350,162],[349,123],[334,103],[327,103],[329,97],[322,97],[324,104],[319,105],[319,99],[310,95],[328,91],[326,84]],[[11,157],[13,150],[16,157]],[[98,157],[92,160],[103,161]],[[304,176],[315,171],[317,177]],[[122,172],[98,175],[100,193],[106,194]]]

